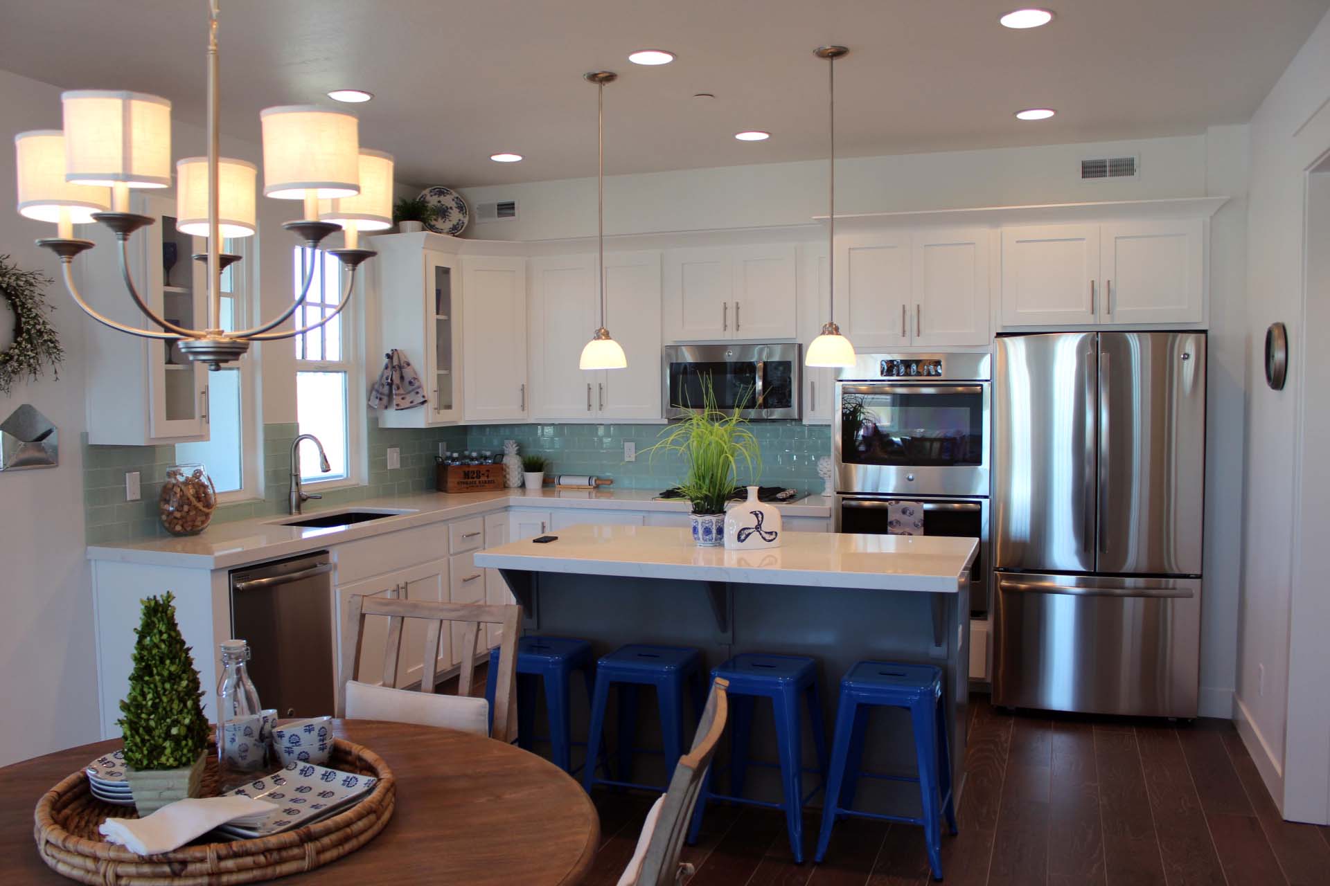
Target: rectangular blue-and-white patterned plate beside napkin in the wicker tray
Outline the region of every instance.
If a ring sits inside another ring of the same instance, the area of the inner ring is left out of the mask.
[[[379,780],[374,776],[340,772],[313,762],[291,762],[266,778],[230,792],[230,796],[277,804],[278,812],[261,825],[222,825],[217,830],[242,840],[279,834],[332,814],[374,790],[376,784]]]

